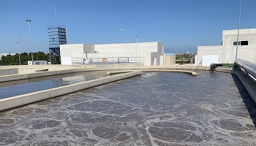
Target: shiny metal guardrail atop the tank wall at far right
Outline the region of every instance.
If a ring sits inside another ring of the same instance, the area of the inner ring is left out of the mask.
[[[254,80],[256,79],[256,64],[249,61],[244,61],[243,59],[236,59],[235,64],[239,69],[246,72],[247,75],[254,78]]]

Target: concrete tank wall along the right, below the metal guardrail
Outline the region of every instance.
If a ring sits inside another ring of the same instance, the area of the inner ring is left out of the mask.
[[[256,104],[256,83],[253,82],[252,80],[246,79],[246,74],[244,74],[243,72],[238,72],[238,70],[233,70],[233,69],[216,68],[215,70],[217,72],[225,72],[225,73],[236,75],[244,85],[244,88],[246,89],[246,91],[252,97],[252,100]]]

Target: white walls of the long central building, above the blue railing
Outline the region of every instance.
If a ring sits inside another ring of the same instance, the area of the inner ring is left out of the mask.
[[[61,64],[63,57],[71,58],[85,58],[88,61],[90,58],[129,58],[129,61],[143,62],[145,66],[154,65],[153,58],[157,58],[157,65],[159,65],[159,56],[162,55],[162,42],[138,42],[126,44],[104,44],[104,45],[61,45]],[[67,60],[67,58],[65,58]]]

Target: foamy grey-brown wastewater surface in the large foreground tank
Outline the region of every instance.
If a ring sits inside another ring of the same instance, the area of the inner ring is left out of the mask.
[[[256,145],[236,76],[144,72],[0,112],[0,145]]]

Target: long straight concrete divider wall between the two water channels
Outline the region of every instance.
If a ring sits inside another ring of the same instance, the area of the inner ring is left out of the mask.
[[[45,91],[28,93],[20,96],[13,96],[7,99],[0,99],[0,111],[8,110],[14,107],[20,107],[22,105],[31,104],[33,102],[41,101],[45,99],[50,99],[56,96],[61,96],[67,93],[75,92],[75,91],[81,91],[83,89],[92,88],[97,85],[103,85],[109,82],[123,80],[129,77],[135,77],[140,74],[141,74],[141,71],[129,72],[125,74],[118,74],[111,77],[103,77],[97,80],[80,82],[73,85],[66,85],[59,88],[52,88]]]

